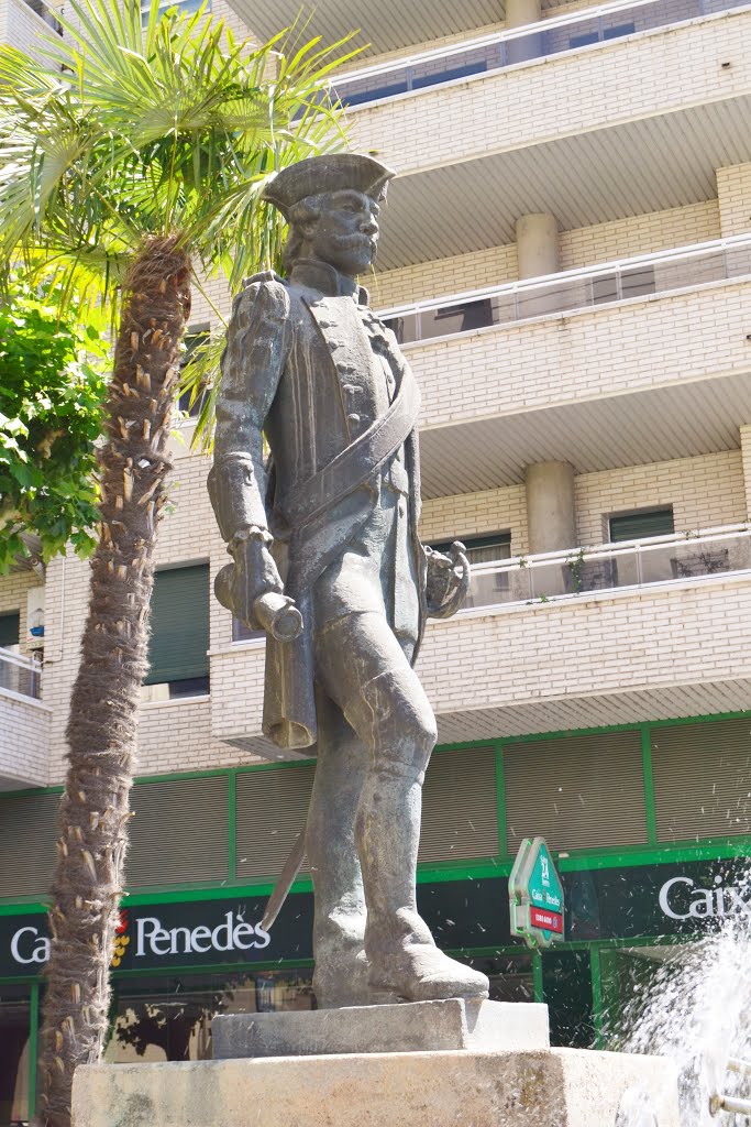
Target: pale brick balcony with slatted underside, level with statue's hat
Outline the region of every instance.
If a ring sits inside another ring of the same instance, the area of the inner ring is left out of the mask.
[[[354,147],[400,172],[378,268],[510,243],[525,212],[572,230],[714,197],[751,160],[750,37],[746,3],[352,107]]]

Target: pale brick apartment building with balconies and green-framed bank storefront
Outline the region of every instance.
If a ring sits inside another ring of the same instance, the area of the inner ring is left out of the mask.
[[[265,36],[297,0],[214,11]],[[39,18],[5,0],[0,34],[33,50]],[[667,944],[749,909],[751,5],[319,0],[312,20],[372,44],[337,86],[354,145],[400,174],[364,281],[422,389],[423,540],[473,561],[419,660],[439,728],[421,907],[493,996],[606,1044]],[[195,331],[229,308],[208,291]],[[177,445],[110,1059],[200,1056],[218,1009],[314,1004],[305,871],[257,930],[314,767],[271,758],[263,640],[209,596],[207,470]],[[0,579],[0,1124],[34,1106],[86,602],[74,558]],[[508,913],[537,833],[567,898],[543,955]]]

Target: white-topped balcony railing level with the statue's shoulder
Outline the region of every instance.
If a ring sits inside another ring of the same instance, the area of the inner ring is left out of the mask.
[[[748,234],[381,310],[400,344],[599,308],[751,274]]]

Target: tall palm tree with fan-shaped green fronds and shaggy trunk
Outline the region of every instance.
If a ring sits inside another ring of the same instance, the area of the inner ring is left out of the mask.
[[[123,887],[153,551],[194,258],[270,266],[268,176],[342,144],[321,91],[345,41],[239,43],[203,9],[71,0],[50,64],[0,51],[0,246],[102,303],[115,336],[99,451],[100,538],[68,724],[53,879],[41,1122],[69,1127],[73,1070],[101,1054]]]

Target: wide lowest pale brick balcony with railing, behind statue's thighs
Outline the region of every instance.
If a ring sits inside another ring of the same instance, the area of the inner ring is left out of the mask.
[[[473,567],[419,660],[441,743],[751,708],[751,526]],[[260,735],[265,647],[212,654],[212,735]],[[471,702],[471,706],[467,706]]]

